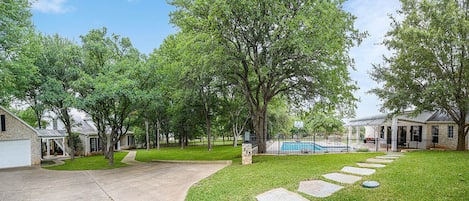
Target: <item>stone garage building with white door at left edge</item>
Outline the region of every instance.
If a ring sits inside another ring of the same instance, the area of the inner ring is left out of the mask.
[[[39,165],[40,133],[0,106],[0,168]]]

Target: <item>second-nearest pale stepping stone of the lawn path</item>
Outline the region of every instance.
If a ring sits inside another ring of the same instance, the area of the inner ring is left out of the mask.
[[[324,198],[331,196],[333,193],[339,191],[342,188],[344,187],[337,184],[332,184],[322,180],[312,180],[300,182],[298,191],[314,197]]]

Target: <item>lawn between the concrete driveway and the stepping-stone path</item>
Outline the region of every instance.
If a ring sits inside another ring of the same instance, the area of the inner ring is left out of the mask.
[[[256,195],[278,187],[296,192],[300,181],[319,179],[377,155],[382,153],[254,156],[251,165],[241,165],[238,158],[194,185],[186,200],[256,200]]]

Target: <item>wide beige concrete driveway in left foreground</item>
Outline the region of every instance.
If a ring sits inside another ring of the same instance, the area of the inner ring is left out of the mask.
[[[226,166],[152,162],[93,171],[0,169],[0,200],[184,200],[193,184]]]

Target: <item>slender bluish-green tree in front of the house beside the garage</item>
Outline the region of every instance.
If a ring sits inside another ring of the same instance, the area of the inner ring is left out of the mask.
[[[72,83],[79,78],[82,65],[81,49],[75,43],[59,35],[44,36],[42,51],[37,65],[45,75],[41,85],[40,99],[64,123],[69,139],[73,136],[73,120],[70,110],[76,104]],[[71,160],[75,157],[74,140],[69,140]]]

